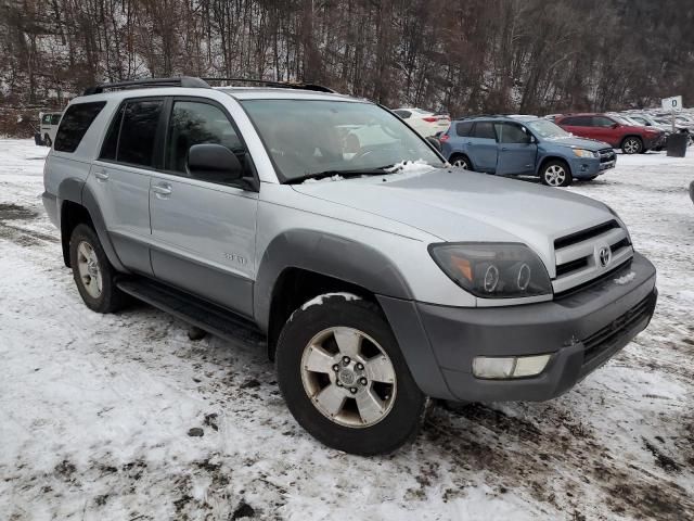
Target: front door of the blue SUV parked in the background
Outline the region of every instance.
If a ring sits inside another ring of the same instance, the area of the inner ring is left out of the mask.
[[[535,174],[538,145],[530,131],[517,123],[497,123],[494,128],[499,137],[497,174]]]

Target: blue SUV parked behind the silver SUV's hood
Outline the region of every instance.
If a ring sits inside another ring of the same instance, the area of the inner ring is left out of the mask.
[[[454,120],[440,136],[454,166],[497,175],[540,176],[544,185],[567,187],[592,180],[617,163],[607,143],[576,138],[536,116],[480,116]]]

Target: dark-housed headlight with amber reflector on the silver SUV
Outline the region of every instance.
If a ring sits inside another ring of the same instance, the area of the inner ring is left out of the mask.
[[[524,244],[432,244],[429,254],[453,282],[481,298],[520,298],[552,293],[542,260]]]

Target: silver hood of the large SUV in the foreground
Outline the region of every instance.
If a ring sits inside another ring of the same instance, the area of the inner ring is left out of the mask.
[[[554,239],[608,221],[592,199],[462,168],[304,183],[296,191],[425,231],[441,242],[523,242],[553,271]],[[335,216],[339,217],[339,208]],[[434,241],[433,241],[434,242]]]

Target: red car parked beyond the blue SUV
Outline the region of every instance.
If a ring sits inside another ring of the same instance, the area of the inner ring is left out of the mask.
[[[642,154],[665,144],[663,130],[630,125],[608,114],[565,114],[556,116],[554,123],[575,136],[609,143],[625,154]]]

